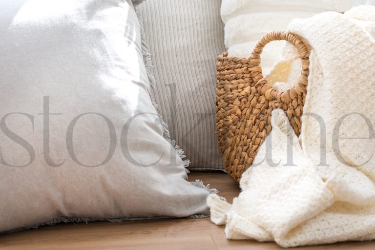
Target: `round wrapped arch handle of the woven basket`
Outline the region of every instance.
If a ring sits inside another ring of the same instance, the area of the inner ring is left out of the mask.
[[[301,63],[302,63],[302,71],[301,76],[298,80],[298,83],[292,87],[297,92],[304,92],[306,93],[306,86],[307,86],[307,78],[309,76],[309,56],[310,51],[306,47],[305,43],[296,35],[286,32],[286,31],[272,31],[267,33],[265,36],[263,36],[259,42],[255,45],[253,52],[250,56],[250,64],[252,67],[260,66],[260,54],[262,54],[264,46],[271,42],[276,40],[285,40],[287,42],[292,43],[298,50],[300,56],[301,56]],[[261,71],[260,71],[261,72]],[[263,77],[263,76],[262,76]],[[292,89],[291,89],[292,90]],[[276,91],[275,91],[276,92]],[[272,93],[276,97],[276,93]],[[279,93],[280,94],[280,93]],[[282,94],[281,94],[282,95]]]

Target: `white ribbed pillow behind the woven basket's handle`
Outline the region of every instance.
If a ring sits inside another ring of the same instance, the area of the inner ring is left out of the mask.
[[[287,30],[295,18],[309,18],[325,11],[346,11],[353,0],[223,0],[225,46],[229,56],[247,58],[255,44],[270,31]],[[284,42],[267,44],[262,69],[267,75],[281,54]]]

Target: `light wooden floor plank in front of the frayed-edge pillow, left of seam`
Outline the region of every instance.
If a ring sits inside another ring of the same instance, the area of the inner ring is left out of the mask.
[[[197,249],[216,250],[210,222],[200,219],[163,219],[59,224],[0,237],[3,249]],[[199,233],[198,230],[201,230]],[[194,239],[194,240],[192,240]]]

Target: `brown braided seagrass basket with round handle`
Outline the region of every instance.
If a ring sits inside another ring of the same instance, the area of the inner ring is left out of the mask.
[[[278,92],[262,75],[260,54],[275,40],[291,42],[299,51],[302,72],[298,82],[287,91]],[[259,147],[271,132],[271,112],[282,108],[294,132],[301,133],[301,115],[306,97],[310,52],[296,35],[270,32],[255,46],[250,58],[217,59],[216,129],[223,166],[239,182],[251,166]]]

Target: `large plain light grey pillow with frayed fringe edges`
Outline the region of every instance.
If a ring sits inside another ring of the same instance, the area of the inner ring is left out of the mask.
[[[139,29],[130,0],[0,0],[0,231],[208,213],[163,137]]]

